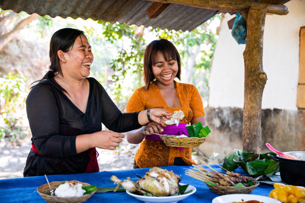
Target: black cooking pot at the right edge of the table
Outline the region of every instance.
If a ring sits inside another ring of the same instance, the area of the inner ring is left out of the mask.
[[[300,160],[285,159],[281,155],[268,156],[280,165],[281,179],[290,185],[305,186],[305,152],[283,152],[298,157]]]

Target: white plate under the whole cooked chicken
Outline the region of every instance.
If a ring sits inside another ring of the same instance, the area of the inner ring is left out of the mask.
[[[186,185],[184,183],[180,183],[180,185]],[[189,185],[188,188],[186,188],[185,192],[193,190],[192,192],[188,193],[188,194],[181,194],[181,195],[177,195],[177,196],[169,196],[169,197],[149,197],[149,196],[142,196],[142,195],[137,195],[137,194],[132,194],[129,191],[126,191],[127,194],[133,196],[134,198],[140,200],[140,201],[144,201],[147,203],[175,203],[178,202],[182,199],[187,198],[188,196],[190,196],[191,194],[196,192],[196,187]]]

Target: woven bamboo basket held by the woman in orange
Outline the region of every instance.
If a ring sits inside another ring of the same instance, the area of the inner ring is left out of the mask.
[[[152,133],[156,134],[156,133]],[[197,137],[184,137],[184,138],[177,138],[175,135],[159,135],[160,138],[163,140],[164,144],[169,147],[199,147],[206,138],[197,138]]]

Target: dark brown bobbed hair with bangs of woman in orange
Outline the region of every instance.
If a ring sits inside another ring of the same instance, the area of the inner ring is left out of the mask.
[[[178,63],[178,73],[176,77],[180,80],[181,75],[181,59],[178,53],[178,50],[170,41],[165,39],[153,40],[146,47],[144,52],[144,82],[145,82],[145,90],[149,89],[149,85],[156,77],[152,72],[152,65],[155,64],[155,58],[157,52],[161,51],[165,57],[165,60],[168,61],[170,58],[173,58]]]

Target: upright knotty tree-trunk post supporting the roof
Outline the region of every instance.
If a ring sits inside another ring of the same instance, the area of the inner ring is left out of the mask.
[[[247,16],[245,89],[242,148],[246,152],[261,151],[261,108],[267,75],[263,70],[263,39],[266,6],[251,6]]]

